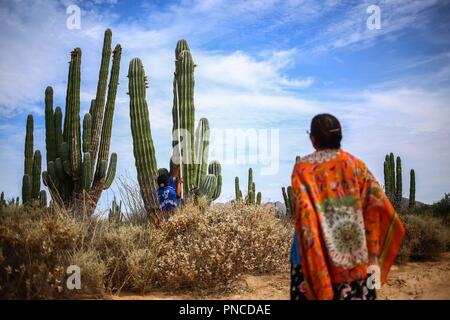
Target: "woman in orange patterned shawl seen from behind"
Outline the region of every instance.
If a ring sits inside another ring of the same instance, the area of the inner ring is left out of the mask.
[[[341,149],[334,116],[315,116],[308,133],[316,151],[295,164],[291,181],[300,255],[291,298],[375,299],[404,226],[364,162]]]

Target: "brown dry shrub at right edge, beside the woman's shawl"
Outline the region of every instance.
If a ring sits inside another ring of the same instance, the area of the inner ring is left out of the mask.
[[[397,262],[434,260],[446,251],[450,230],[442,219],[430,215],[404,215],[406,235]]]

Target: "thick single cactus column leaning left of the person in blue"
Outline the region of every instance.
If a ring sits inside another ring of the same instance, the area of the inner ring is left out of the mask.
[[[156,195],[158,166],[145,95],[147,85],[145,71],[141,60],[138,58],[134,58],[130,62],[128,81],[131,134],[138,183],[145,210],[149,216],[152,216],[159,208]]]

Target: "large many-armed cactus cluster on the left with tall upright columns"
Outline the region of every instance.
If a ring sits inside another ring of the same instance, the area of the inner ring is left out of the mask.
[[[80,48],[75,48],[71,52],[64,122],[61,108],[58,106],[53,110],[52,87],[45,90],[47,170],[42,173],[43,182],[48,187],[52,199],[59,205],[77,209],[82,207],[87,215],[91,215],[95,210],[102,191],[111,186],[117,166],[117,154],[111,154],[109,165],[108,155],[122,49],[117,45],[113,51],[106,96],[111,38],[111,30],[107,29],[104,35],[96,98],[91,101],[89,112],[84,115],[82,123],[80,123]]]

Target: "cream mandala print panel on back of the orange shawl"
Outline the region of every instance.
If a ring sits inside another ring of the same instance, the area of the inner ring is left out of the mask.
[[[333,206],[319,216],[325,245],[336,267],[351,269],[368,261],[361,210],[351,206]]]

